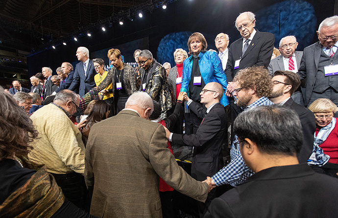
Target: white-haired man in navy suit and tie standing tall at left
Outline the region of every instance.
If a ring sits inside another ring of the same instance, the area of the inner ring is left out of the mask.
[[[89,59],[88,48],[78,47],[76,57],[80,63],[75,66],[73,81],[68,89],[72,91],[79,89],[78,94],[82,97],[90,89],[96,87],[94,81],[96,71],[94,69],[93,61]]]

